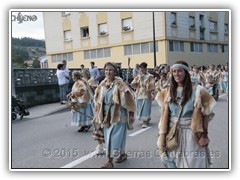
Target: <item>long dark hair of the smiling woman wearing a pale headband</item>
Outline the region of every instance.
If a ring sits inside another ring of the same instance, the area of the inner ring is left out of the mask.
[[[188,67],[188,64],[185,61],[177,61],[175,64],[183,64]],[[186,104],[186,102],[191,98],[192,95],[192,82],[191,82],[191,77],[188,71],[185,71],[185,78],[183,80],[183,91],[182,91],[182,103],[181,105]],[[170,81],[170,97],[171,97],[171,102],[177,103],[177,87],[178,84],[175,81],[173,74],[171,76],[171,81]]]

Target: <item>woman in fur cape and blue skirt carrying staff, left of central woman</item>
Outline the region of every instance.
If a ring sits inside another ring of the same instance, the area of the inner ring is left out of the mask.
[[[72,79],[74,81],[72,91],[67,95],[73,102],[81,104],[77,109],[72,109],[72,126],[80,127],[78,132],[87,132],[92,124],[92,120],[87,117],[93,117],[94,111],[91,104],[90,88],[80,79],[80,72],[75,70],[72,72]],[[81,112],[81,113],[79,113]],[[85,116],[85,115],[87,116]]]

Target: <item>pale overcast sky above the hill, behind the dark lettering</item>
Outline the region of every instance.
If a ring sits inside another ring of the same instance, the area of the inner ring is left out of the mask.
[[[26,18],[27,16],[28,19]],[[11,18],[12,37],[45,39],[42,12],[12,11]],[[20,19],[24,19],[24,21],[20,21]]]

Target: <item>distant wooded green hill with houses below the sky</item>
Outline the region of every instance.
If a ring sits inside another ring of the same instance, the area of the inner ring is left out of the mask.
[[[24,61],[37,60],[46,55],[45,41],[33,38],[12,37],[12,65],[25,67]]]

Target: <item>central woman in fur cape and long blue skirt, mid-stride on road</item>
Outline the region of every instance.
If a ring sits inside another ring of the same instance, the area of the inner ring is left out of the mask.
[[[107,162],[101,168],[113,168],[113,158],[116,163],[127,159],[125,153],[127,127],[134,122],[136,105],[134,95],[129,86],[118,77],[114,63],[104,65],[106,78],[95,90],[94,108],[97,122],[104,127]]]

